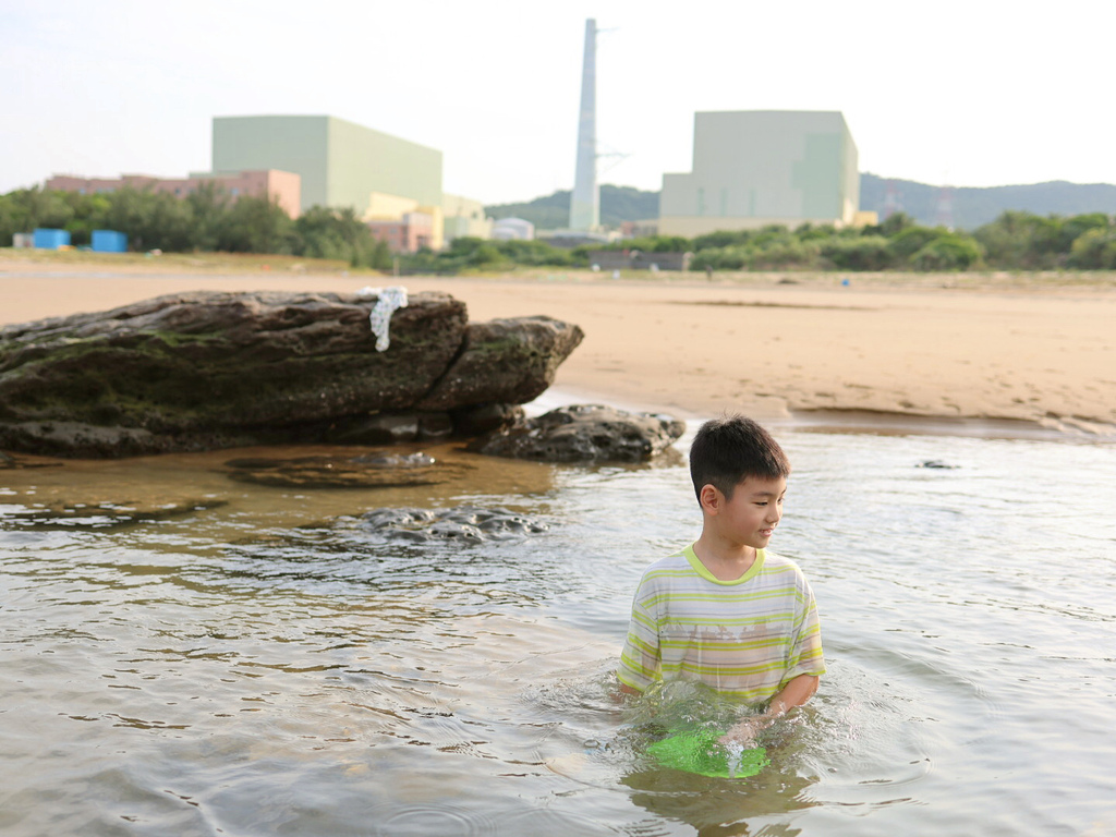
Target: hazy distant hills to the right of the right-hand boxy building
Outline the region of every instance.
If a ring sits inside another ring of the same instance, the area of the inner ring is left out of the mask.
[[[937,223],[941,186],[911,180],[889,180],[875,174],[860,175],[860,209],[884,215],[888,183],[893,185],[899,209],[918,223]],[[953,227],[974,230],[994,221],[1007,210],[1036,215],[1080,215],[1086,212],[1116,214],[1116,185],[1108,183],[1033,183],[1024,186],[954,186],[949,190]]]

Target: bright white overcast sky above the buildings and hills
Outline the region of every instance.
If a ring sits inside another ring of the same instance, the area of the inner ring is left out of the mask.
[[[574,181],[585,19],[603,183],[690,171],[696,110],[840,110],[860,171],[1116,183],[1114,0],[0,0],[0,193],[184,176],[211,118],[328,114],[485,203]]]

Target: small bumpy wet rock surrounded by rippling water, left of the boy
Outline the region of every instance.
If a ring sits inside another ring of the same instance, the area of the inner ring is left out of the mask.
[[[545,532],[549,527],[507,509],[459,506],[453,509],[374,509],[356,528],[408,541],[448,540],[481,543]]]

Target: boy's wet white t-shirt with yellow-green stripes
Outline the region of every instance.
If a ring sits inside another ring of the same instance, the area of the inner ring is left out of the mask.
[[[641,692],[691,680],[749,703],[824,673],[814,591],[793,561],[760,549],[743,576],[722,581],[692,545],[644,573],[616,672]]]

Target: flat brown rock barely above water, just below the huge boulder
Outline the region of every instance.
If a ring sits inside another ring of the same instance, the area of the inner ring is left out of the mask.
[[[362,456],[247,458],[229,460],[225,472],[238,482],[299,489],[407,488],[440,485],[461,477],[468,465],[437,462],[424,453]]]

